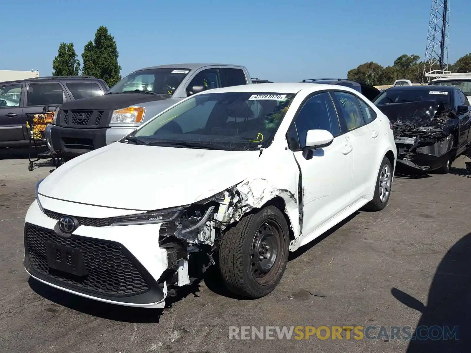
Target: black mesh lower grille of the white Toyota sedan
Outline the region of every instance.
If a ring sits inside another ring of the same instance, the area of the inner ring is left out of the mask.
[[[50,269],[46,243],[80,249],[88,275],[73,274]],[[114,243],[72,236],[64,239],[51,230],[27,224],[25,243],[31,267],[49,278],[77,289],[102,295],[130,296],[149,290],[149,285],[123,250]]]

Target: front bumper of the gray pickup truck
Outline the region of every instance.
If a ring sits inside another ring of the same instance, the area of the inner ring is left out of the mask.
[[[76,157],[119,141],[135,129],[135,127],[63,128],[53,125],[46,132],[46,138],[52,151],[66,157]]]

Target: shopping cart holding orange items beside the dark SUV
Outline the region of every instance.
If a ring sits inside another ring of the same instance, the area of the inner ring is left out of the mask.
[[[28,128],[30,139],[29,171],[32,171],[34,165],[37,165],[36,162],[41,159],[51,159],[55,167],[59,164],[59,156],[57,153],[49,150],[46,136],[44,135],[46,126],[52,123],[57,106],[54,107],[54,111],[50,108],[51,106],[45,106],[40,113],[26,113],[26,127]],[[46,151],[41,152],[44,149]]]

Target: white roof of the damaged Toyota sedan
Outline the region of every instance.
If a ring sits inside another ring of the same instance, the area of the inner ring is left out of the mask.
[[[351,88],[338,85],[325,85],[319,83],[257,83],[256,85],[241,85],[224,88],[213,88],[204,93],[224,93],[224,92],[265,92],[265,93],[298,93],[302,89],[309,89],[312,92],[321,89],[342,89],[349,91]]]

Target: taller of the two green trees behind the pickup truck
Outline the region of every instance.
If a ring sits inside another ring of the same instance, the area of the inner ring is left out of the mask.
[[[105,26],[100,26],[93,42],[90,40],[83,48],[82,73],[102,79],[109,87],[112,87],[121,80],[118,56],[114,37]]]

